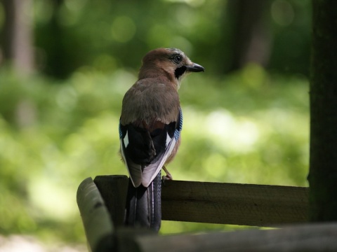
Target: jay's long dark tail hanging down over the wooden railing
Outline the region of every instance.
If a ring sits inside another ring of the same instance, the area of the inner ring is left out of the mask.
[[[129,180],[125,224],[159,231],[161,225],[160,172],[147,188],[143,185],[134,188],[131,180]]]

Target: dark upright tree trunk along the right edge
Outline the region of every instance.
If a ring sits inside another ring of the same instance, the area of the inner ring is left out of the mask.
[[[310,218],[337,221],[337,1],[312,3]]]

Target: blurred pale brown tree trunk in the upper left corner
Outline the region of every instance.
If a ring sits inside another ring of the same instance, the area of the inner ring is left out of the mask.
[[[34,69],[31,5],[32,0],[4,0],[4,58],[18,73],[30,73]]]

